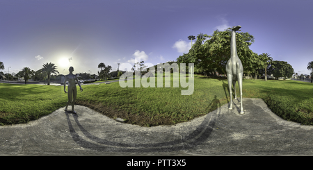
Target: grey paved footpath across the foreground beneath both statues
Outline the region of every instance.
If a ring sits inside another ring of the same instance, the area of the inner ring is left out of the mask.
[[[28,124],[0,126],[0,155],[312,155],[312,126],[284,121],[262,99],[243,99],[174,126],[124,124],[75,105]],[[69,106],[70,107],[70,106]],[[70,110],[70,108],[69,108]]]

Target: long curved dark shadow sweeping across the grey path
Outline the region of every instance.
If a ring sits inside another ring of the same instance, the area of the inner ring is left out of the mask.
[[[212,101],[209,105],[209,107],[218,107],[218,103],[220,104],[220,101],[218,99],[215,99]],[[74,130],[72,126],[72,122],[70,121],[70,114],[68,112],[65,112],[65,115],[67,117],[67,124],[70,128],[70,134],[72,135],[72,139],[74,142],[79,144],[83,148],[89,148],[97,151],[107,151],[109,148],[113,148],[114,151],[120,151],[120,152],[134,152],[134,153],[150,153],[150,152],[166,152],[166,151],[179,151],[182,149],[188,149],[193,148],[194,146],[197,146],[198,144],[201,144],[204,142],[210,135],[214,128],[216,119],[218,118],[218,115],[220,114],[220,108],[217,110],[214,110],[213,112],[208,113],[205,116],[204,121],[196,128],[192,133],[189,135],[186,135],[185,137],[182,137],[182,139],[176,139],[171,142],[160,142],[160,143],[154,143],[154,144],[122,144],[119,142],[111,142],[107,139],[100,139],[99,137],[95,137],[94,135],[90,134],[88,130],[83,128],[81,123],[79,122],[78,115],[72,114],[72,117],[74,118],[75,123],[77,126],[79,126],[81,132],[83,135],[88,137],[88,139],[92,140],[93,142],[97,142],[98,144],[94,144],[91,142],[86,141],[82,137],[80,137],[77,132]],[[202,135],[200,135],[202,133]],[[200,135],[199,137],[197,137]],[[162,137],[161,137],[162,138]],[[188,142],[189,140],[193,140],[193,142]],[[104,144],[99,145],[99,144]],[[175,146],[179,145],[179,146]],[[116,147],[118,146],[118,148]]]

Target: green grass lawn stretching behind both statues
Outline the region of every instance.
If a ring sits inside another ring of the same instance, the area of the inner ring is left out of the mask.
[[[194,75],[193,94],[183,96],[183,88],[120,87],[111,84],[84,85],[77,88],[75,105],[86,105],[112,119],[126,119],[140,126],[172,125],[200,117],[230,101],[225,78]],[[173,80],[171,76],[171,81]],[[179,78],[178,78],[179,80]],[[186,77],[188,81],[188,77]],[[263,99],[275,114],[289,121],[313,124],[313,83],[294,80],[243,80],[243,97]],[[239,97],[239,87],[236,83]],[[13,85],[0,83],[0,124],[19,124],[38,119],[65,107],[63,86]],[[70,109],[70,106],[69,106]]]

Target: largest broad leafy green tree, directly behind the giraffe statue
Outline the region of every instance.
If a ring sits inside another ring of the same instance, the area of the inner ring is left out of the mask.
[[[218,71],[226,74],[226,63],[230,59],[230,40],[231,31],[216,30],[213,35],[200,33],[189,52],[177,58],[177,64],[194,63],[195,71],[205,73]],[[248,72],[256,74],[257,69],[264,65],[257,53],[249,49],[252,42],[254,37],[249,33],[236,33],[236,50],[246,74]]]

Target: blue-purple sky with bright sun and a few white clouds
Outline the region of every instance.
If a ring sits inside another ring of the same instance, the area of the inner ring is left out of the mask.
[[[49,62],[59,74],[97,74],[100,62],[130,71],[135,59],[152,66],[188,53],[189,35],[240,25],[253,52],[310,74],[312,9],[305,0],[0,0],[0,71]]]

